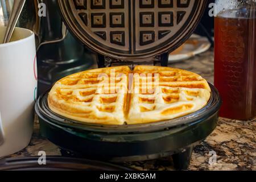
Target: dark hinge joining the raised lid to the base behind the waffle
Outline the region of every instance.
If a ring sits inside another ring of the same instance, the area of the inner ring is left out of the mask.
[[[105,68],[105,67],[115,67],[115,66],[122,66],[128,65],[131,69],[133,69],[136,65],[160,65],[162,67],[168,66],[168,57],[169,53],[163,53],[162,55],[157,55],[152,57],[152,59],[144,59],[138,61],[127,61],[127,60],[117,60],[112,59],[111,57],[106,57],[104,55],[98,54],[98,68]]]

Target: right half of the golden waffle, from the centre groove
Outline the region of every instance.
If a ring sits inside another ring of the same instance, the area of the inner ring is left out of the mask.
[[[210,87],[204,78],[175,68],[135,67],[133,86],[128,124],[181,117],[203,108],[210,98]]]

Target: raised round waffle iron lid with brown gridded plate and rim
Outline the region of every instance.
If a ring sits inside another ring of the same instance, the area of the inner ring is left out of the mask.
[[[57,0],[69,30],[92,51],[122,61],[157,59],[191,36],[207,1]]]

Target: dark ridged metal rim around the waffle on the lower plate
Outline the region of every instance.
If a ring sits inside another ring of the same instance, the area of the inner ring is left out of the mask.
[[[168,121],[160,121],[154,123],[146,123],[139,125],[100,125],[100,124],[90,124],[79,121],[74,121],[72,119],[64,118],[57,115],[49,109],[47,104],[48,92],[39,97],[36,102],[35,110],[39,118],[46,119],[47,122],[52,123],[56,126],[61,126],[69,129],[86,130],[92,132],[103,132],[103,133],[147,133],[160,130],[171,129],[172,127],[179,127],[185,125],[192,125],[203,121],[204,119],[210,117],[210,115],[215,114],[221,106],[221,98],[218,91],[212,84],[209,84],[212,90],[212,94],[208,104],[202,109],[196,111],[195,113],[185,115],[176,119],[171,119]]]

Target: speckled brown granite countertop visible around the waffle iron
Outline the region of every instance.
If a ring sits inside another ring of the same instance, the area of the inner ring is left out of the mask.
[[[213,51],[171,64],[170,67],[199,73],[209,82],[213,82]],[[220,118],[216,130],[195,147],[189,170],[256,170],[255,133],[256,118],[251,121]],[[47,155],[61,155],[57,146],[40,136],[38,119],[35,117],[34,134],[30,145],[10,157],[37,156],[39,151],[45,151]],[[210,151],[217,154],[217,163],[212,165],[208,163]],[[174,170],[171,158],[125,165],[139,170]]]

